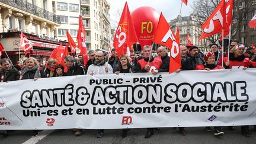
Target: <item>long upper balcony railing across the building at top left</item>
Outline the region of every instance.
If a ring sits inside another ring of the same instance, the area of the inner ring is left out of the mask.
[[[59,15],[55,15],[52,12],[39,8],[36,5],[30,4],[29,2],[23,0],[0,0],[0,2],[7,4],[11,7],[18,8],[22,11],[28,12],[30,14],[37,15],[38,17],[53,21],[54,23],[60,24]]]

